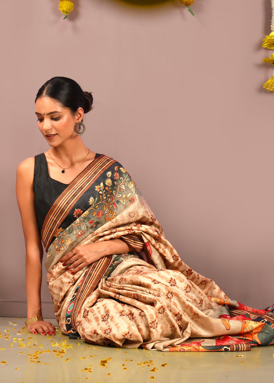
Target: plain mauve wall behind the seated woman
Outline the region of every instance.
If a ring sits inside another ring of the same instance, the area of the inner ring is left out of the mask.
[[[75,0],[65,21],[58,0],[2,3],[1,315],[26,315],[15,171],[47,149],[33,100],[54,75],[93,91],[84,142],[130,171],[181,258],[231,298],[273,303],[270,0],[195,0],[195,17],[179,0]],[[52,316],[46,282],[42,298]]]

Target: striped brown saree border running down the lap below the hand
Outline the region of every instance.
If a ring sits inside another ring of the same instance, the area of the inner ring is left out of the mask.
[[[79,285],[79,289],[74,301],[74,306],[70,313],[72,328],[77,328],[77,316],[82,308],[84,301],[97,288],[100,279],[103,277],[104,273],[107,270],[107,267],[111,264],[111,262],[112,256],[108,255],[103,258],[100,258],[98,261],[92,263],[88,267],[85,276],[81,284]]]

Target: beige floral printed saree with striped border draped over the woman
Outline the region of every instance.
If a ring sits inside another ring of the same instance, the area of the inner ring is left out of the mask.
[[[62,228],[69,214],[75,219]],[[41,238],[54,313],[71,338],[165,352],[274,343],[274,305],[256,310],[231,300],[184,263],[129,173],[110,157],[99,155],[67,185]],[[60,262],[76,246],[115,238],[136,251],[105,256],[76,274]]]

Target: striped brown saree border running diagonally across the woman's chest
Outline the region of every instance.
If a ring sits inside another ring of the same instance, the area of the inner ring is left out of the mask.
[[[85,191],[116,161],[101,155],[92,161],[54,201],[43,223],[41,238],[46,251],[61,222],[69,214],[72,206],[83,196]]]

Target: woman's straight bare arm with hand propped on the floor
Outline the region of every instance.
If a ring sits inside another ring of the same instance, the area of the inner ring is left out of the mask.
[[[26,292],[27,319],[34,316],[42,317],[41,281],[43,249],[39,236],[34,210],[33,193],[34,158],[28,158],[17,168],[16,196],[19,205],[25,244],[26,244]],[[54,326],[47,321],[29,323],[28,330],[32,333],[53,334]]]

